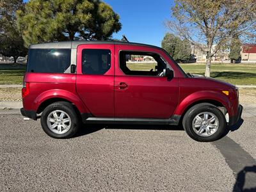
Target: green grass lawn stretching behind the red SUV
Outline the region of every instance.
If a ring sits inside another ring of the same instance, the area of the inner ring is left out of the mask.
[[[129,64],[132,67],[132,64]],[[154,68],[155,64],[148,63]],[[134,70],[143,70],[145,65],[136,65]],[[185,72],[204,75],[205,64],[180,64]],[[149,67],[150,68],[150,67]],[[148,66],[147,66],[148,69]],[[0,84],[22,84],[26,65],[0,64]],[[232,84],[256,85],[256,65],[254,64],[212,64],[211,77]]]

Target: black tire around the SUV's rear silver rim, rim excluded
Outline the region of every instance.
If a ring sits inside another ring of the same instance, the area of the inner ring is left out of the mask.
[[[47,125],[47,116],[52,111],[55,111],[55,110],[64,111],[65,113],[67,113],[67,115],[71,119],[70,128],[68,129],[67,132],[63,134],[52,132]],[[52,138],[57,138],[57,139],[72,138],[72,136],[74,136],[74,134],[76,134],[76,132],[79,129],[79,118],[77,117],[76,110],[74,109],[74,106],[72,106],[72,104],[68,102],[54,102],[49,106],[47,106],[41,115],[40,122],[41,122],[42,128],[44,129],[44,132],[49,136],[51,136]]]

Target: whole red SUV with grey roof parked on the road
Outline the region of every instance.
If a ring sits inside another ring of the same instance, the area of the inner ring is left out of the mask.
[[[185,74],[159,47],[54,42],[29,47],[22,115],[52,138],[79,124],[182,124],[197,141],[221,138],[242,113],[232,84]]]

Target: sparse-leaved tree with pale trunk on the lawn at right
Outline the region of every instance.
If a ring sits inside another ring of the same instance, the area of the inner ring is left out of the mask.
[[[256,1],[175,0],[172,19],[166,25],[205,52],[205,76],[209,77],[212,56],[227,47],[233,36],[255,40]]]

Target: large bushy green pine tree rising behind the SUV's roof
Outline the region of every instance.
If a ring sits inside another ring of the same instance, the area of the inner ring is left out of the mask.
[[[26,46],[61,40],[108,40],[119,16],[100,0],[31,0],[18,14]]]

